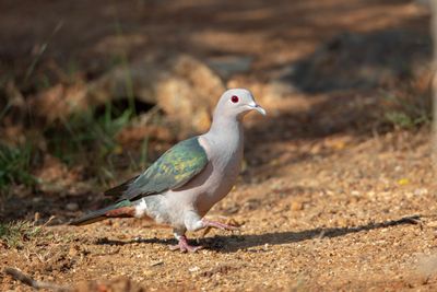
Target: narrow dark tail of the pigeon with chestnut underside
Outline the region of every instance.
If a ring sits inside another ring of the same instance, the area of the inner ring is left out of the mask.
[[[122,200],[109,207],[90,212],[82,218],[73,220],[69,225],[86,225],[94,222],[105,220],[107,218],[126,218],[134,217],[135,208],[129,200]]]

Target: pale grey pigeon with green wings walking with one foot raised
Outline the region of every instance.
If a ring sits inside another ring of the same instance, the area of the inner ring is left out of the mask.
[[[178,241],[172,249],[196,252],[185,233],[205,227],[236,226],[203,219],[233,188],[243,159],[243,117],[250,110],[265,115],[244,89],[226,91],[214,110],[206,133],[181,141],[144,173],[105,191],[119,197],[115,205],[91,212],[70,224],[84,225],[107,218],[149,218],[170,225]]]

